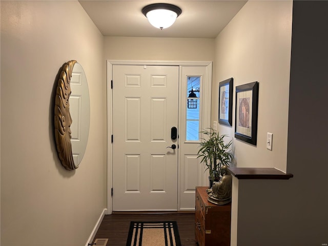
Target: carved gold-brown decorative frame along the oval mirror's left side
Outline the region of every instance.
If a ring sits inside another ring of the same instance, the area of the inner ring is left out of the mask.
[[[78,165],[75,165],[72,155],[72,144],[71,144],[71,124],[72,117],[70,114],[70,103],[69,98],[72,93],[71,91],[71,78],[72,71],[76,60],[70,60],[64,64],[63,69],[60,72],[56,97],[55,97],[55,118],[54,118],[54,130],[55,139],[59,159],[61,164],[67,170],[75,170]]]

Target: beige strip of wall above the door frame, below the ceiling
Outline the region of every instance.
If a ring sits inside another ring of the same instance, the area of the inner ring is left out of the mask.
[[[213,38],[105,37],[105,59],[213,61]]]

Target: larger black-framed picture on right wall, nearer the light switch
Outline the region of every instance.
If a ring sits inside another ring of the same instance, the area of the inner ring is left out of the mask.
[[[236,86],[235,138],[255,146],[257,144],[258,90],[257,81]]]

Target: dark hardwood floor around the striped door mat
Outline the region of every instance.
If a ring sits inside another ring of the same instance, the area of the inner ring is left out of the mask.
[[[108,238],[107,246],[126,246],[130,221],[177,221],[182,246],[196,246],[194,213],[145,213],[105,215],[96,238]],[[155,245],[154,245],[155,246]]]

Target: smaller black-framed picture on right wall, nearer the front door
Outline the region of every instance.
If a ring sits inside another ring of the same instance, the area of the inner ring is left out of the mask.
[[[233,78],[219,83],[219,124],[232,126]]]

